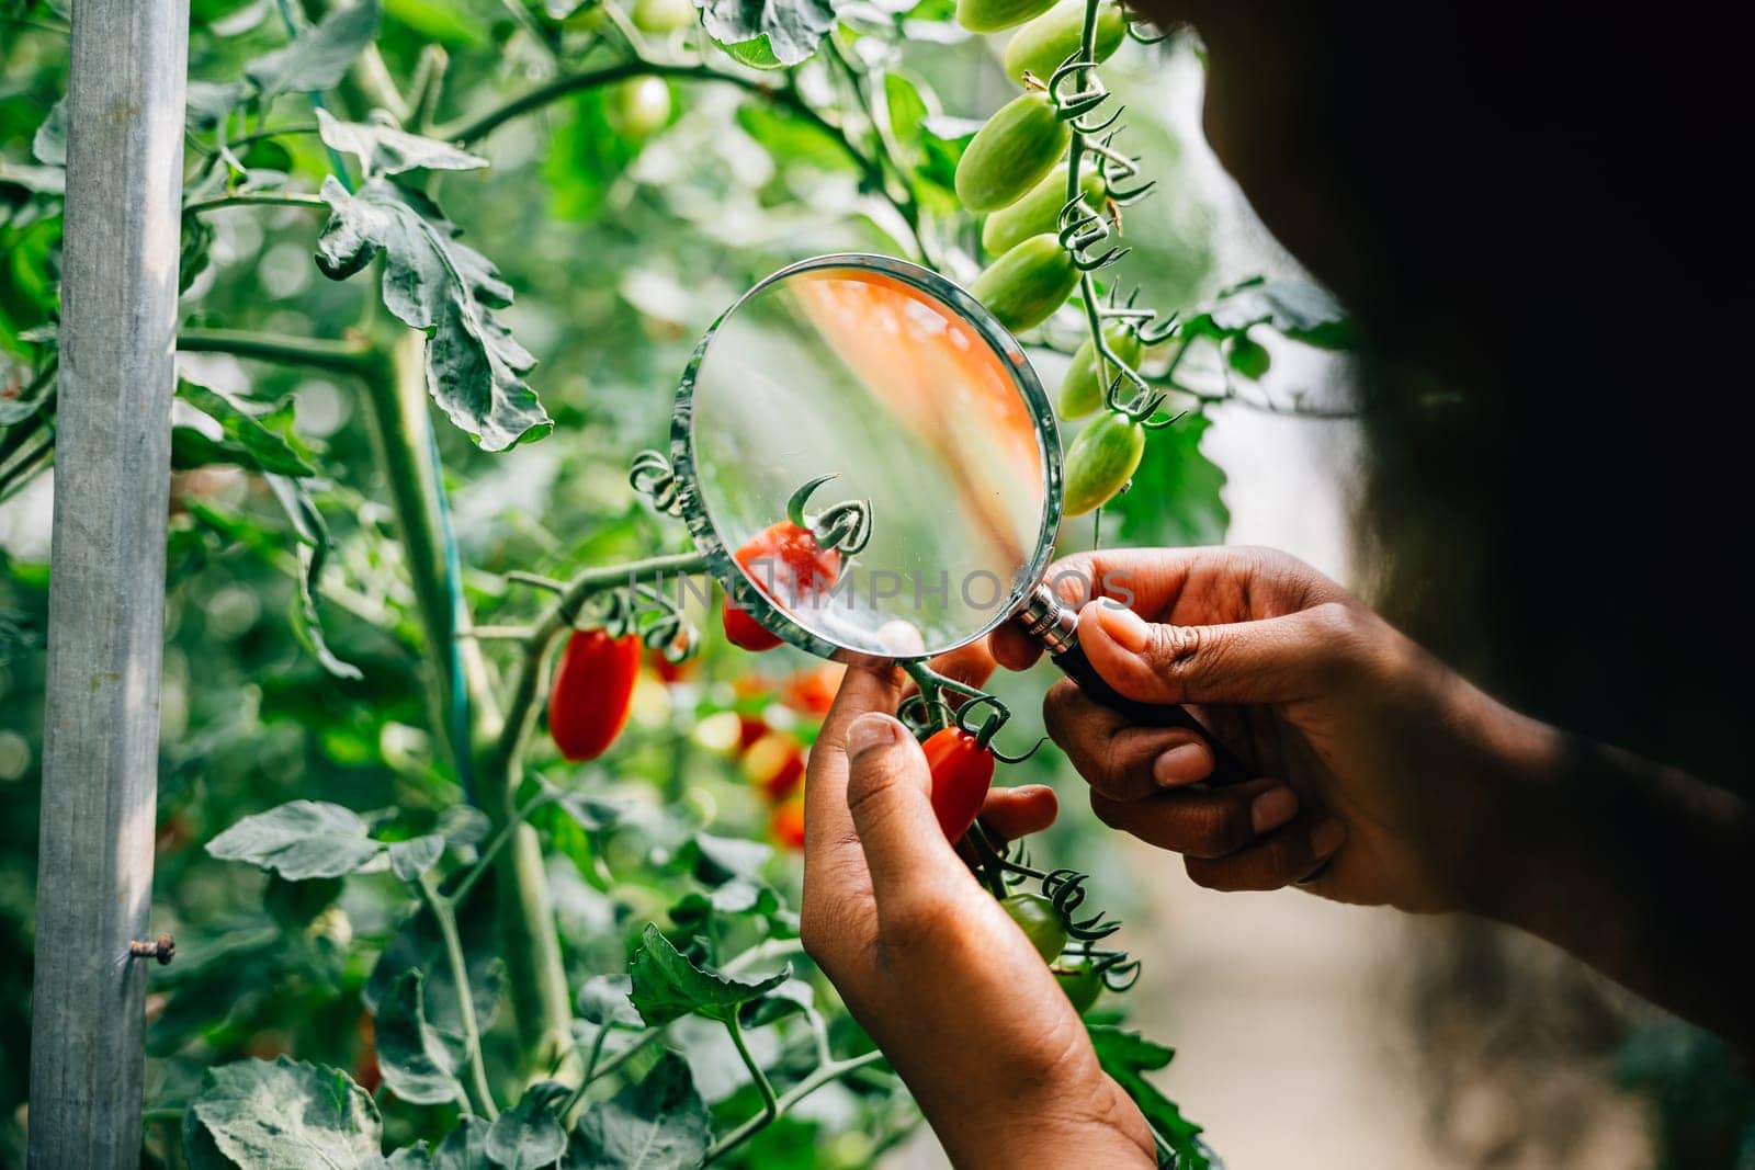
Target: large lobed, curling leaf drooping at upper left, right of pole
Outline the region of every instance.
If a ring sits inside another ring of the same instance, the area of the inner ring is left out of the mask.
[[[486,451],[549,433],[555,423],[521,377],[535,358],[493,316],[512,303],[511,286],[456,242],[432,200],[386,179],[349,195],[335,175],[323,198],[333,214],[318,237],[318,268],[342,281],[384,253],[384,305],[426,332],[426,389],[451,421]]]

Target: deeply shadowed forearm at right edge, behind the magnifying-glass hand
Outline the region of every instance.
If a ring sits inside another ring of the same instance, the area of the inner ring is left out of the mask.
[[[1532,800],[1481,909],[1755,1047],[1750,972],[1732,958],[1755,896],[1755,805],[1558,733],[1515,767]]]

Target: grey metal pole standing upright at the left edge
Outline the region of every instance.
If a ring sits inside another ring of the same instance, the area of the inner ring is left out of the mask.
[[[188,0],[79,0],[32,998],[30,1165],[140,1165]]]

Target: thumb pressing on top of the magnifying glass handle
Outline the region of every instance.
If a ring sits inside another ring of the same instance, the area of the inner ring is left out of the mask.
[[[1079,646],[1109,686],[1143,703],[1283,703],[1323,688],[1351,640],[1350,624],[1339,603],[1171,626],[1092,602],[1079,612]]]

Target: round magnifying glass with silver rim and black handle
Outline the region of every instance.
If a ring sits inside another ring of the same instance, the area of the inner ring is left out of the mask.
[[[683,375],[670,472],[755,633],[918,660],[1018,621],[1093,700],[1199,731],[1213,779],[1243,777],[1192,714],[1118,695],[1079,649],[1078,614],[1042,579],[1062,510],[1048,395],[1016,339],[937,272],[844,253],[751,288]]]

